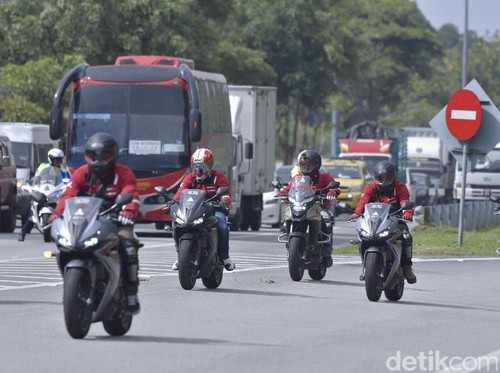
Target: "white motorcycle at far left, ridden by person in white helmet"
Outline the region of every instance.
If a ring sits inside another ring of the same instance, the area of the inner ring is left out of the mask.
[[[31,196],[34,194],[40,195],[36,199],[30,198],[30,209],[33,224],[43,235],[44,242],[51,241],[50,227],[47,226],[47,222],[50,215],[54,213],[57,202],[66,190],[68,182],[69,179],[64,177],[58,168],[48,167],[43,169],[40,175],[33,178],[30,184],[21,187],[23,191],[28,192]]]

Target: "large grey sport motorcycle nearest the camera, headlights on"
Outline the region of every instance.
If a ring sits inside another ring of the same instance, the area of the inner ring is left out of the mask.
[[[62,217],[51,223],[57,249],[44,256],[57,258],[64,281],[64,321],[75,339],[84,338],[90,324],[99,321],[110,335],[124,335],[130,329],[117,222],[118,212],[131,201],[131,193],[121,194],[101,211],[101,198],[70,198]]]

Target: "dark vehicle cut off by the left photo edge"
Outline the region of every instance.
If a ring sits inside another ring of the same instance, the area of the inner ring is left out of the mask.
[[[16,228],[16,163],[9,138],[0,136],[0,232]]]

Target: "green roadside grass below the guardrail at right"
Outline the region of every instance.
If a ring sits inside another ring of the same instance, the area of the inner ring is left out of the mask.
[[[498,256],[500,226],[476,231],[464,231],[462,246],[458,246],[458,229],[422,225],[412,231],[414,256]],[[357,254],[357,246],[334,249],[334,254]]]

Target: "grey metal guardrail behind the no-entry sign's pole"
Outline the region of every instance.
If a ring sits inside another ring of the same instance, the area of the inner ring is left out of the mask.
[[[500,214],[493,210],[498,204],[491,201],[466,201],[464,208],[464,230],[472,231],[500,225]],[[424,220],[434,225],[458,228],[460,204],[424,206]]]

